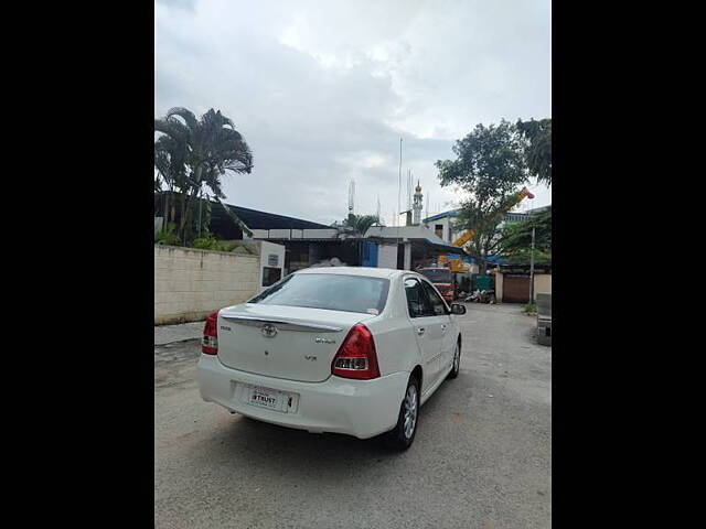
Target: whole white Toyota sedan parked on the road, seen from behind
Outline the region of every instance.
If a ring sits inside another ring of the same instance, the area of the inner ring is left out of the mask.
[[[456,378],[461,333],[421,274],[379,268],[292,273],[206,321],[205,401],[309,432],[411,445],[419,407]]]

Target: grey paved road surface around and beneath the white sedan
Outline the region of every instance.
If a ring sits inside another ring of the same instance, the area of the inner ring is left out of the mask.
[[[232,415],[199,397],[197,342],[156,347],[156,527],[549,528],[552,348],[518,305],[468,307],[402,454]]]

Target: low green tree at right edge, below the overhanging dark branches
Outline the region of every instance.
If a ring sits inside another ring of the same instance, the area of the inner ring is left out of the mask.
[[[499,255],[512,264],[528,264],[532,252],[532,229],[535,230],[535,262],[552,262],[552,206],[521,223],[506,225],[501,235]]]

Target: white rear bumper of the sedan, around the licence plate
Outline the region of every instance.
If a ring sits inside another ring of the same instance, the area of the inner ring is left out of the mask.
[[[310,432],[334,432],[368,439],[392,430],[409,374],[402,371],[374,380],[350,380],[331,376],[322,382],[298,382],[231,369],[217,356],[201,355],[199,389],[215,402],[265,422]],[[244,402],[239,385],[261,386],[299,396],[295,412],[281,412]]]

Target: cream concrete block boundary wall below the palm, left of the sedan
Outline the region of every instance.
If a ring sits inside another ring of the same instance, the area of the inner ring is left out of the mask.
[[[259,292],[260,256],[154,245],[154,324],[194,322]]]

